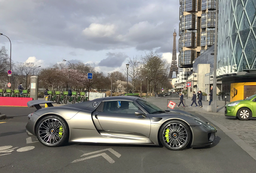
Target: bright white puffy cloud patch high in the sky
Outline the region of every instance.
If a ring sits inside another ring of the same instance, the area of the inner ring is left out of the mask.
[[[83,30],[83,34],[87,37],[110,37],[115,34],[116,26],[114,24],[97,24],[92,23],[88,28]]]

